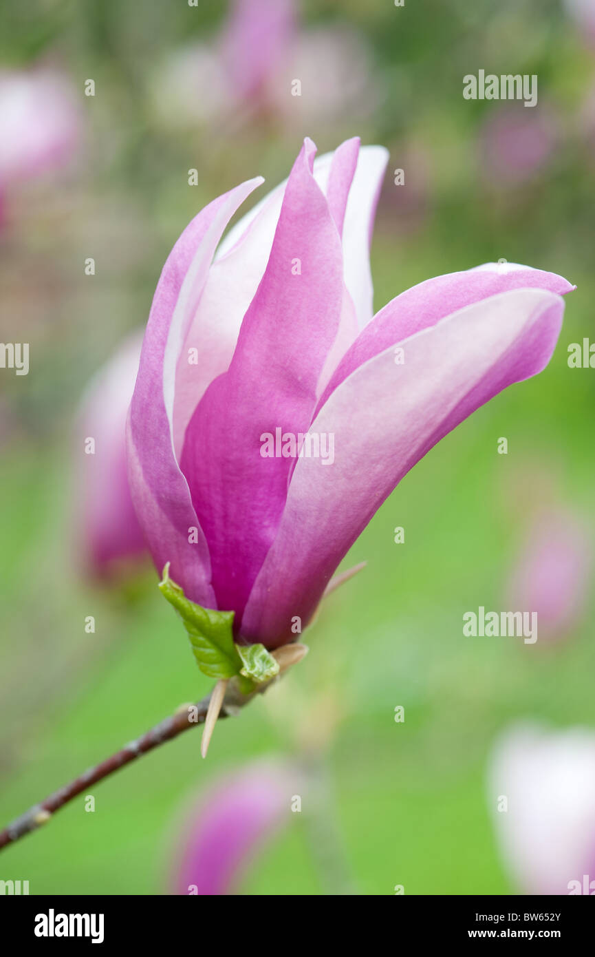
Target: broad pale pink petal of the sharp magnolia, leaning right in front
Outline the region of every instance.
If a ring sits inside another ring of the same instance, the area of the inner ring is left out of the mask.
[[[298,459],[283,517],[242,620],[275,647],[302,628],[343,555],[386,496],[444,435],[501,389],[549,361],[563,300],[520,289],[474,303],[356,369],[310,432],[334,434],[335,459]]]

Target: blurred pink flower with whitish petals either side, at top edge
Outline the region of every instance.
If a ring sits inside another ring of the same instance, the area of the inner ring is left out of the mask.
[[[299,26],[293,0],[236,0],[211,43],[167,57],[149,83],[169,126],[275,117],[295,131],[298,120],[351,124],[379,101],[364,36],[344,25]]]

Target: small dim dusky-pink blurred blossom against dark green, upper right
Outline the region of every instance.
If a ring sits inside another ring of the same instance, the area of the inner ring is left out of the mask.
[[[491,110],[479,136],[483,178],[505,187],[527,183],[546,166],[560,137],[554,113],[541,104],[530,111],[515,106]]]

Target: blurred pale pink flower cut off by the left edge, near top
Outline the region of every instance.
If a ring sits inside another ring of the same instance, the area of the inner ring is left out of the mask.
[[[0,71],[0,199],[14,183],[67,165],[79,139],[67,78],[49,68]]]

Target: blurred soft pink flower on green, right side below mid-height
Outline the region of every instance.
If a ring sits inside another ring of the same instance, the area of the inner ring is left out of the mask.
[[[537,612],[540,640],[556,640],[580,623],[592,568],[591,528],[562,506],[533,517],[511,574],[507,608]]]

